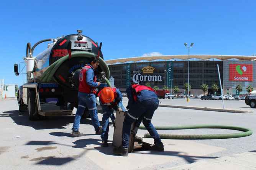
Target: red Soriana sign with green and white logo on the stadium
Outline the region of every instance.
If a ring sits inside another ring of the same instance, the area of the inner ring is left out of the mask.
[[[253,81],[253,64],[229,64],[230,81]]]

